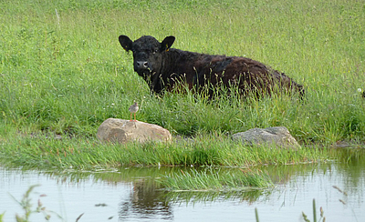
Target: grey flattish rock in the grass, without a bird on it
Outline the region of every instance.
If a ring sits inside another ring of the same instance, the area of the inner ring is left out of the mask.
[[[264,129],[252,128],[245,132],[236,133],[232,138],[248,145],[274,144],[285,148],[300,147],[297,140],[290,135],[285,126],[268,127]]]

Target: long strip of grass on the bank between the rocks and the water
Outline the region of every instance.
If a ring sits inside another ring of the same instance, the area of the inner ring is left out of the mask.
[[[227,136],[208,135],[170,143],[102,144],[93,138],[10,136],[2,139],[3,165],[47,169],[120,166],[256,166],[312,163],[328,159],[319,148],[243,146]]]

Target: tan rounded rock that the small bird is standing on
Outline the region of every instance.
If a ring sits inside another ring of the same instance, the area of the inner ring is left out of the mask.
[[[169,130],[162,128],[162,126],[119,118],[105,120],[99,126],[97,136],[100,141],[118,143],[130,141],[140,143],[148,141],[164,142],[172,139]]]

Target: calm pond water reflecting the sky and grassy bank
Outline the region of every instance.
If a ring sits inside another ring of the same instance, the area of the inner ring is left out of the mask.
[[[275,187],[250,192],[166,192],[153,178],[181,168],[130,167],[114,172],[46,172],[0,167],[0,214],[16,221],[16,202],[26,190],[33,208],[40,199],[51,221],[313,221],[313,198],[326,221],[365,221],[365,161],[263,166]],[[229,168],[226,170],[237,170]],[[335,186],[335,187],[333,187]],[[40,197],[42,195],[45,197]],[[16,200],[15,200],[16,199]],[[45,221],[33,214],[31,221]]]

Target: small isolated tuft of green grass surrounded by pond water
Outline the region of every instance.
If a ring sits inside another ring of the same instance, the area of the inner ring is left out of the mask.
[[[249,190],[253,187],[269,187],[269,177],[259,171],[237,169],[235,173],[222,173],[192,169],[162,178],[162,187],[169,191],[232,191]]]

